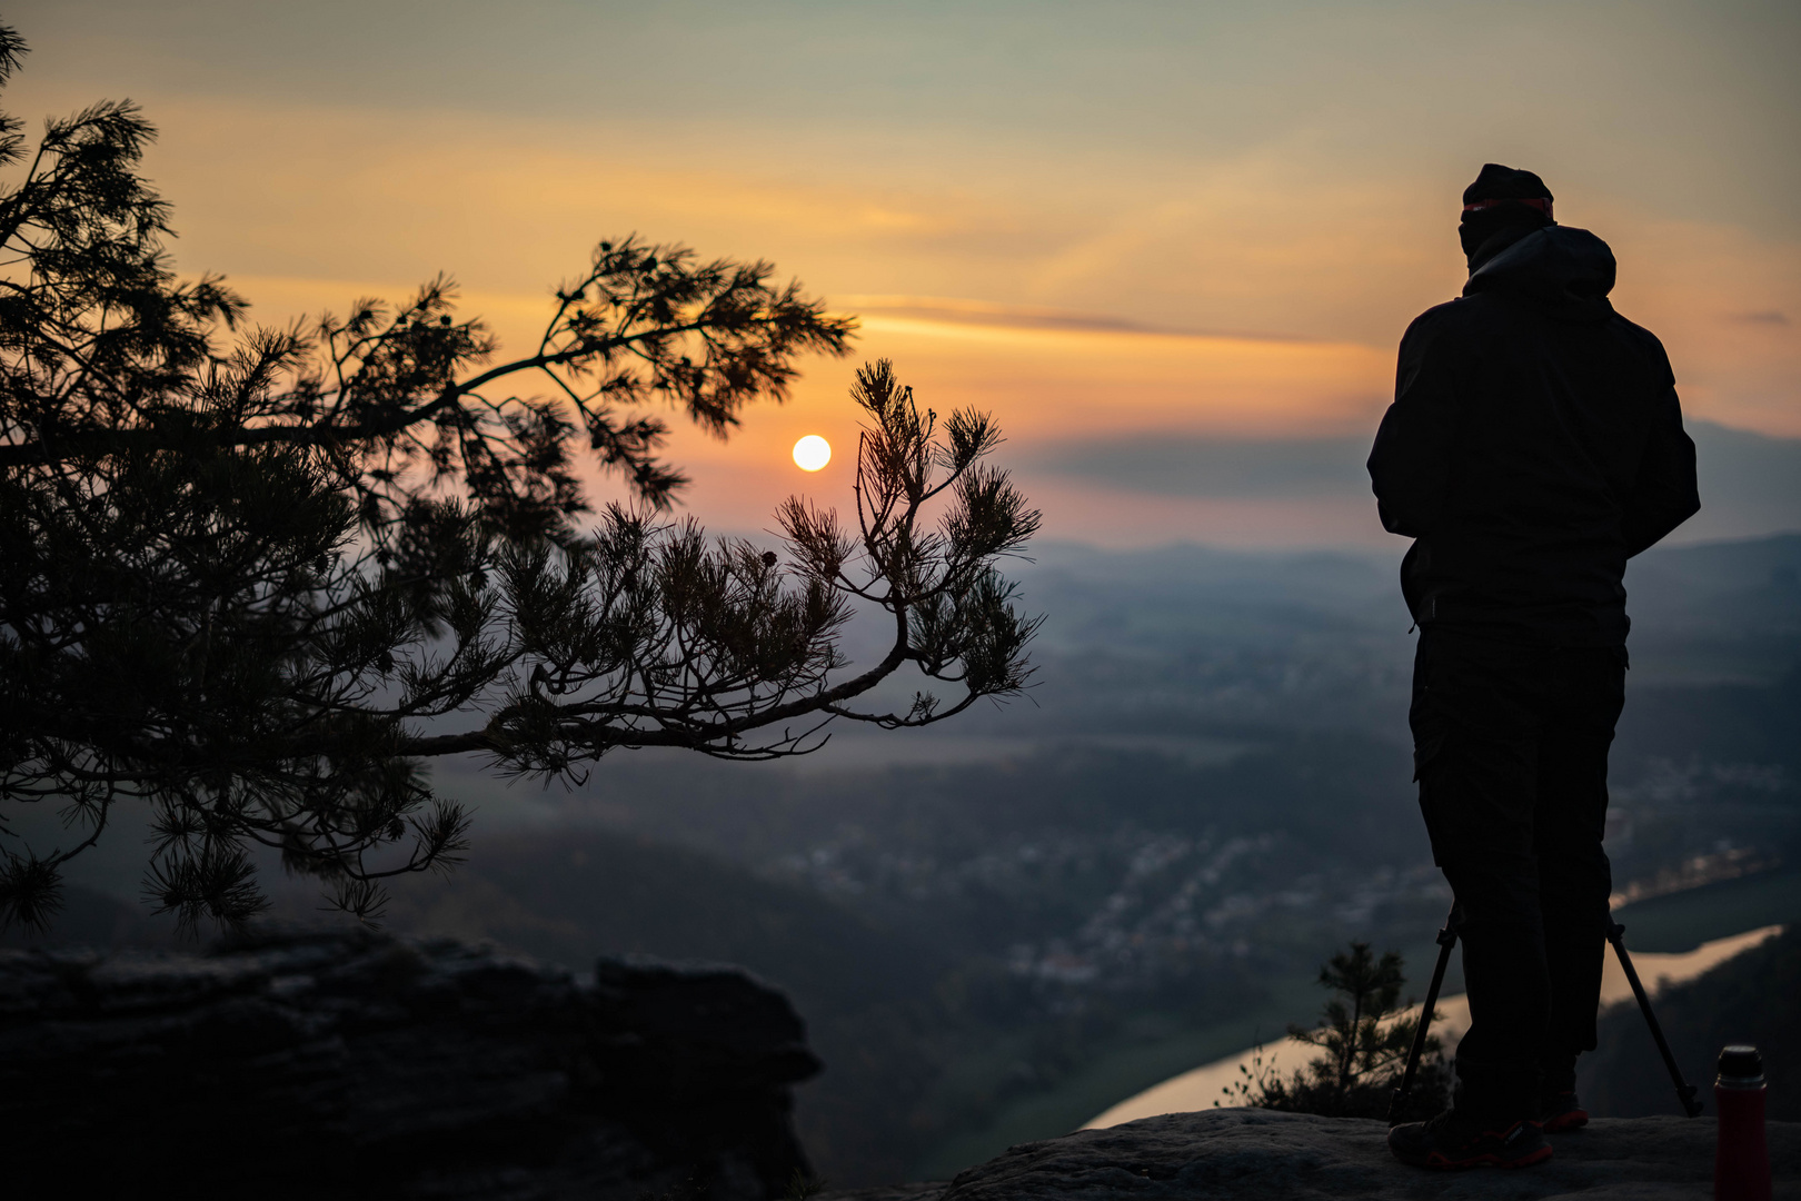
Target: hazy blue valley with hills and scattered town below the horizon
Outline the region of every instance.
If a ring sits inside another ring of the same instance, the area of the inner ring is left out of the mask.
[[[445,767],[479,801],[472,859],[400,882],[391,924],[576,971],[603,951],[749,965],[827,1062],[800,1124],[845,1185],[991,1124],[1000,1145],[1055,1133],[1126,1095],[1091,1089],[1192,1066],[1207,1030],[1308,1019],[1345,938],[1426,971],[1446,893],[1408,780],[1396,562],[1046,546],[1021,565],[1050,614],[1032,700],[798,763],[621,754],[575,794]],[[1801,535],[1634,560],[1621,886],[1698,852],[1801,861],[1797,567]],[[135,897],[130,825],[101,850],[79,879]],[[158,936],[72,900],[90,936]],[[308,882],[281,900],[319,904]],[[1084,1082],[1115,1061],[1138,1066]]]

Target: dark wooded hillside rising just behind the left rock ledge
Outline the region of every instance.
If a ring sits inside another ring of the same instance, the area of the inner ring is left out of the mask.
[[[989,1023],[1021,1019],[996,971],[818,891],[632,834],[484,835],[450,879],[400,882],[389,924],[492,938],[576,971],[600,953],[749,967],[794,999],[825,1061],[800,1086],[796,1115],[818,1170],[845,1185],[902,1179],[937,1133],[922,1102],[946,1062],[992,1037]]]

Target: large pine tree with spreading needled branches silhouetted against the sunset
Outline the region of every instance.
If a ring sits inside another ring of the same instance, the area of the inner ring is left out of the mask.
[[[25,45],[0,29],[0,83]],[[454,864],[466,816],[425,763],[580,780],[620,747],[800,754],[834,720],[922,726],[1019,691],[1036,627],[996,562],[1037,513],[980,412],[857,373],[855,524],[798,501],[785,556],[668,515],[657,407],[728,434],[855,324],[767,263],[602,241],[529,353],[448,279],[285,330],[169,265],[130,103],[0,115],[0,922],[146,805],[146,895],[189,927],[263,908],[276,848],[362,918]],[[540,389],[537,396],[524,389]],[[627,499],[593,511],[591,456]],[[839,634],[881,610],[888,652]],[[928,688],[859,708],[911,664]],[[5,816],[54,805],[67,844]]]

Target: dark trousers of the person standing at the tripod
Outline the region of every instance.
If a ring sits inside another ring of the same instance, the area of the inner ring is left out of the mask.
[[[1470,1032],[1457,1106],[1533,1116],[1596,1046],[1612,871],[1606,751],[1623,646],[1527,646],[1423,628],[1414,769],[1432,855],[1462,909]]]

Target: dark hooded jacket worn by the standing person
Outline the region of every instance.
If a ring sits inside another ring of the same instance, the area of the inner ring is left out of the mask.
[[[1401,591],[1423,627],[1623,645],[1626,560],[1700,508],[1670,358],[1614,312],[1588,230],[1484,250],[1401,339],[1369,457],[1383,528],[1416,540]]]

